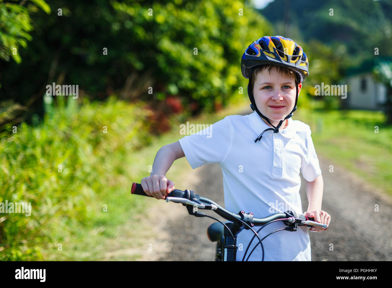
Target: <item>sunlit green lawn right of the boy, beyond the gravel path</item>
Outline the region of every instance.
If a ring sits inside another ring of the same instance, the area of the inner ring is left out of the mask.
[[[382,112],[298,109],[293,119],[310,126],[318,154],[392,195],[392,126]]]

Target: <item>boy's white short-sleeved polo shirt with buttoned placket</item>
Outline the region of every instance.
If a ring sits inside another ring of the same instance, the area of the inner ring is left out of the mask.
[[[256,112],[246,116],[230,115],[179,141],[193,169],[204,164],[220,165],[225,208],[230,212],[253,212],[256,218],[287,210],[303,214],[299,172],[307,181],[321,175],[310,127],[289,118],[285,129],[279,130],[279,133],[269,130],[254,143],[267,128],[270,127]],[[208,191],[196,193],[209,197]],[[285,227],[281,221],[271,223],[260,231],[260,239]],[[254,230],[257,232],[259,228]],[[237,261],[242,260],[253,235],[252,231],[245,229],[238,234]],[[257,237],[245,260],[258,243],[256,240]],[[307,228],[303,226],[298,226],[296,232],[275,232],[262,243],[264,261],[310,261],[310,239]],[[249,261],[261,261],[261,256],[259,244]]]

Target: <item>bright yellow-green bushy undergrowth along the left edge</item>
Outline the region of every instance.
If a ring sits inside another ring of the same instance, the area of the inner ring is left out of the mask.
[[[112,97],[78,107],[72,98],[59,99],[58,107],[47,101],[38,127],[22,123],[17,133],[0,134],[0,202],[32,208],[30,217],[0,213],[2,261],[42,259],[42,245],[76,233],[73,223],[89,223],[100,191],[122,172],[122,159],[151,141],[139,104]]]

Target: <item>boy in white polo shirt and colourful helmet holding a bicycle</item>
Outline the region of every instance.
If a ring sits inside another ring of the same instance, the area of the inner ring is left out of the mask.
[[[290,118],[308,76],[308,65],[302,48],[289,38],[265,36],[250,44],[242,56],[241,71],[249,78],[248,95],[255,112],[226,116],[206,128],[209,137],[203,130],[162,147],[154,160],[153,173],[141,181],[145,193],[163,199],[174,190],[174,182],[164,175],[174,160],[186,156],[193,169],[219,163],[225,208],[231,212],[244,210],[261,218],[292,210],[329,225],[330,216],[321,210],[323,179],[310,127]],[[309,200],[305,213],[299,195],[300,170]],[[284,223],[276,221],[265,226],[259,236],[262,239],[280,228],[285,228]],[[242,260],[253,235],[250,230],[238,234],[237,261]],[[250,249],[256,244],[254,240]],[[263,240],[263,246],[265,261],[310,261],[309,234],[303,226],[298,226],[296,232],[271,234]],[[261,260],[260,246],[249,260]]]

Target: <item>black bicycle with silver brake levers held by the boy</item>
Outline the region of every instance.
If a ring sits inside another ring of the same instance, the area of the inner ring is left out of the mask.
[[[147,194],[145,194],[142,185],[138,183],[132,184],[131,194],[148,196]],[[325,229],[328,228],[328,225],[315,222],[313,217],[303,216],[301,214],[297,214],[296,212],[290,210],[286,211],[285,213],[274,213],[271,214],[270,216],[263,217],[263,218],[254,218],[252,212],[245,213],[243,210],[238,212],[238,214],[234,214],[226,210],[225,208],[221,207],[214,201],[205,197],[201,197],[200,195],[196,194],[193,190],[189,190],[189,189],[184,191],[174,189],[172,192],[167,194],[164,197],[164,199],[166,199],[166,202],[172,201],[174,203],[181,203],[183,206],[186,206],[188,213],[190,215],[196,217],[209,217],[211,219],[218,221],[217,223],[212,223],[207,228],[207,237],[209,238],[209,240],[212,242],[217,241],[215,261],[236,261],[236,253],[238,248],[236,246],[237,235],[243,229],[252,230],[255,235],[250,240],[250,243],[247,249],[245,250],[245,254],[243,256],[242,261],[244,261],[249,246],[252,243],[254,237],[258,238],[259,243],[257,243],[256,246],[254,246],[252,251],[250,251],[246,261],[248,261],[250,255],[259,244],[261,245],[261,250],[263,252],[263,257],[261,261],[264,261],[264,247],[262,241],[272,233],[281,230],[295,232],[297,231],[298,225],[307,226],[309,228],[313,226],[318,226]],[[223,223],[212,216],[209,216],[203,212],[198,211],[198,209],[212,210],[219,216],[232,222]],[[283,223],[287,227],[273,231],[268,235],[266,235],[263,239],[260,239],[258,232],[260,232],[261,229],[263,229],[268,224],[276,221],[283,221]],[[220,224],[222,224],[223,226]],[[261,226],[261,228],[256,232],[252,228],[254,226]]]

